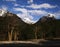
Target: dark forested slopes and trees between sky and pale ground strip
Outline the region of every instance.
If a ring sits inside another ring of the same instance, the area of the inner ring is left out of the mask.
[[[0,40],[30,40],[60,38],[60,20],[44,16],[35,24],[23,22],[7,12],[0,16]]]

